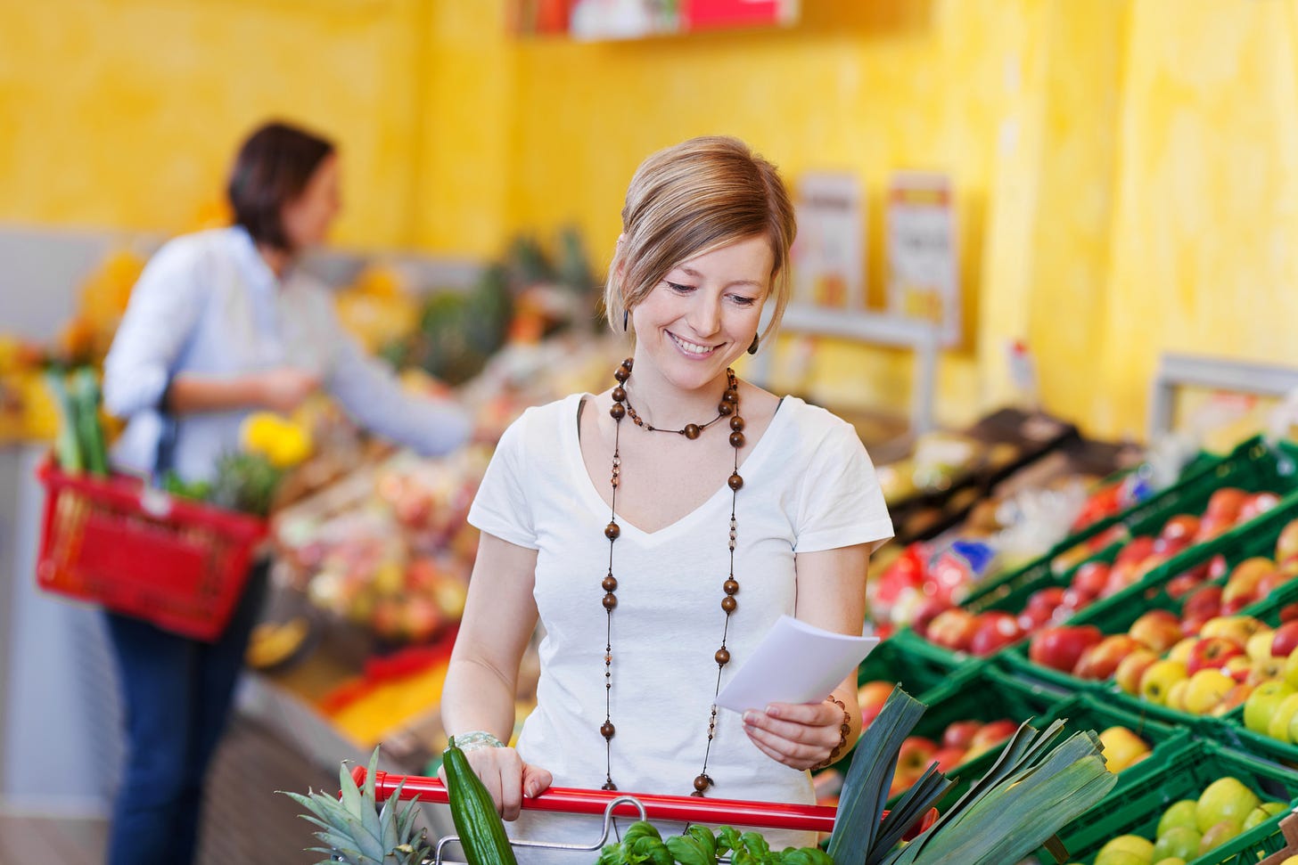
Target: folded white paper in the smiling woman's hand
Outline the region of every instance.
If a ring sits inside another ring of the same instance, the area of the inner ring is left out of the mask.
[[[771,703],[819,703],[877,645],[877,637],[836,634],[780,616],[716,695],[716,705],[744,712]]]

